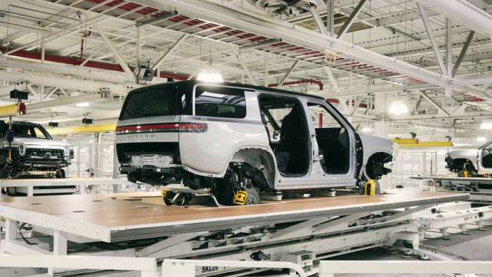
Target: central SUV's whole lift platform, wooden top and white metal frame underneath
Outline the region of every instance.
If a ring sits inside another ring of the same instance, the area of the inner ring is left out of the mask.
[[[1,251],[161,261],[191,257],[283,261],[311,272],[314,262],[342,253],[397,241],[418,247],[419,224],[413,214],[469,198],[468,193],[409,191],[208,207],[150,204],[135,194],[131,198],[122,195],[0,198],[6,230]],[[32,236],[25,238],[22,224],[32,226]],[[113,247],[95,247],[97,242]],[[203,266],[197,274],[227,270]],[[56,272],[64,273],[62,269]],[[65,273],[70,275],[70,271]]]

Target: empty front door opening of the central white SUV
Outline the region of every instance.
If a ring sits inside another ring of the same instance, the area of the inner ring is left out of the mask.
[[[321,166],[328,174],[346,174],[350,169],[350,137],[325,107],[308,103],[311,119],[316,128]]]

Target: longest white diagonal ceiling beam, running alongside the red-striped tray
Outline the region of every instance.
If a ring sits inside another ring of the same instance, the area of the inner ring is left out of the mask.
[[[208,20],[219,25],[226,25],[231,28],[252,32],[265,37],[276,37],[282,39],[284,42],[304,46],[308,49],[317,51],[324,52],[325,49],[330,46],[330,43],[332,43],[330,49],[339,52],[340,56],[344,56],[344,58],[353,58],[358,62],[398,72],[402,75],[420,79],[437,86],[450,86],[451,82],[453,82],[452,78],[436,74],[416,65],[411,65],[403,60],[390,58],[363,49],[350,42],[319,34],[312,30],[307,30],[304,27],[276,20],[275,18],[266,18],[257,13],[245,11],[239,6],[224,3],[223,1],[168,0],[165,4],[162,1],[157,0],[134,0],[134,2],[152,6],[153,8],[165,9],[169,6],[174,6],[180,14],[188,17]],[[481,89],[468,86],[456,86],[455,89],[468,91],[470,94],[486,98],[486,100],[491,99],[484,94],[484,91]]]

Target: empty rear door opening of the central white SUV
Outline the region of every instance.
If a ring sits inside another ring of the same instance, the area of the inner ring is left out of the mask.
[[[309,128],[302,104],[295,98],[260,96],[261,118],[278,170],[304,175],[309,169]]]

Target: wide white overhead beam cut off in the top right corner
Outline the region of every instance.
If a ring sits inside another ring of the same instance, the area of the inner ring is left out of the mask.
[[[420,3],[470,30],[492,35],[492,15],[466,0],[420,0]]]

